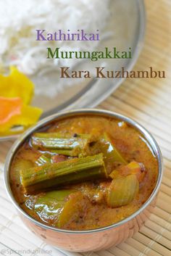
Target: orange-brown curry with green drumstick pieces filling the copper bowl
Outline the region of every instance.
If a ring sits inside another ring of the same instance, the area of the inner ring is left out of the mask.
[[[83,231],[138,210],[157,183],[151,146],[122,120],[75,115],[32,133],[14,155],[10,186],[41,223]]]

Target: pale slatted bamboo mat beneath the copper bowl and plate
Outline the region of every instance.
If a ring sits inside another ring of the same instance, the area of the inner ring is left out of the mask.
[[[164,178],[154,213],[132,238],[106,251],[78,254],[54,249],[28,231],[9,202],[3,182],[4,159],[12,145],[7,141],[0,144],[1,255],[171,255],[171,1],[146,0],[146,12],[145,45],[134,70],[153,67],[154,70],[165,70],[167,78],[127,79],[99,108],[132,117],[157,139],[164,157]]]

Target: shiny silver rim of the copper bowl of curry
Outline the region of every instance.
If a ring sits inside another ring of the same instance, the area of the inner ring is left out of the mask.
[[[16,199],[14,198],[14,195],[12,194],[12,189],[9,184],[9,173],[10,173],[10,165],[12,163],[14,154],[17,152],[17,149],[20,148],[21,144],[25,141],[25,139],[28,139],[31,133],[36,131],[37,129],[43,127],[44,125],[47,125],[50,122],[53,122],[54,120],[61,120],[63,118],[71,117],[74,115],[100,115],[100,116],[106,116],[106,117],[113,117],[118,120],[123,120],[126,123],[130,124],[133,126],[136,130],[138,130],[143,137],[146,139],[146,141],[149,143],[151,146],[151,149],[153,150],[154,154],[156,155],[157,161],[158,161],[158,178],[157,178],[157,183],[156,186],[154,187],[154,190],[152,191],[149,199],[146,200],[146,202],[135,212],[133,212],[132,215],[129,215],[127,218],[120,220],[117,223],[114,223],[109,226],[104,226],[102,228],[96,228],[96,229],[90,229],[90,230],[83,230],[83,231],[72,231],[72,230],[65,230],[65,229],[60,229],[60,228],[55,228],[52,226],[47,226],[44,223],[39,222],[38,220],[32,218],[30,215],[28,215],[27,212],[22,210],[20,205],[17,203]],[[100,109],[78,109],[78,110],[69,110],[69,111],[62,111],[57,114],[51,115],[49,117],[44,118],[40,122],[38,122],[36,125],[33,125],[30,127],[25,133],[20,136],[20,138],[17,139],[17,141],[14,142],[12,145],[11,149],[9,149],[9,152],[7,154],[7,158],[5,161],[4,165],[4,183],[5,183],[5,188],[7,191],[7,194],[9,195],[9,198],[12,201],[12,204],[14,207],[27,218],[30,220],[32,223],[36,224],[37,226],[40,226],[41,228],[46,228],[50,229],[51,231],[56,231],[59,233],[65,233],[65,234],[93,234],[96,232],[100,231],[107,231],[112,228],[117,228],[118,226],[121,226],[125,223],[128,223],[129,220],[132,220],[135,218],[137,215],[139,215],[143,210],[153,201],[154,197],[156,197],[157,192],[159,191],[159,186],[162,183],[162,176],[163,176],[163,160],[162,160],[162,153],[159,149],[159,145],[157,144],[157,141],[154,139],[154,137],[149,133],[149,131],[146,130],[141,124],[136,122],[130,117],[127,117],[125,115],[120,115],[117,112],[112,112],[108,110],[100,110]]]

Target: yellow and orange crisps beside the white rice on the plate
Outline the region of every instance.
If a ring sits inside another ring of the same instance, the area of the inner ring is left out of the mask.
[[[16,67],[8,76],[0,75],[0,135],[16,133],[14,126],[24,130],[37,122],[42,110],[31,107],[34,84]]]

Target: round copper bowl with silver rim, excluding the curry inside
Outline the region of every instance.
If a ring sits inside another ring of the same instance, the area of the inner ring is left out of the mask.
[[[71,117],[75,115],[101,115],[106,117],[114,117],[118,120],[123,120],[126,123],[130,124],[143,135],[146,141],[148,141],[154,155],[157,158],[159,166],[157,184],[154,188],[154,191],[151,193],[149,199],[141,206],[139,210],[118,223],[114,223],[113,225],[106,226],[104,228],[97,228],[88,231],[64,230],[46,226],[46,224],[38,222],[38,220],[30,217],[26,212],[22,210],[20,205],[18,205],[18,203],[14,199],[12,190],[9,185],[9,170],[12,159],[14,157],[14,154],[17,152],[17,149],[20,148],[25,139],[28,139],[31,133],[35,132],[39,128],[42,128],[44,125],[51,123],[51,121],[60,120],[64,117]],[[98,251],[100,249],[107,249],[108,247],[111,247],[113,245],[120,244],[129,237],[133,236],[135,232],[139,231],[146,219],[149,218],[149,214],[155,206],[157,192],[159,191],[159,186],[162,182],[162,173],[162,154],[160,152],[159,146],[153,136],[151,136],[151,134],[146,131],[143,126],[130,119],[129,117],[117,114],[116,112],[109,112],[106,110],[83,109],[59,112],[56,115],[51,115],[50,117],[41,120],[41,122],[23,133],[23,135],[20,136],[20,139],[17,139],[17,141],[15,141],[14,145],[12,146],[7,155],[4,180],[7,193],[9,194],[12,203],[17,208],[17,212],[19,212],[23,222],[26,224],[26,226],[28,226],[28,228],[30,228],[31,231],[33,231],[34,234],[40,236],[41,239],[46,241],[46,243],[51,244],[55,247],[67,249],[68,251],[74,252],[88,252]]]

